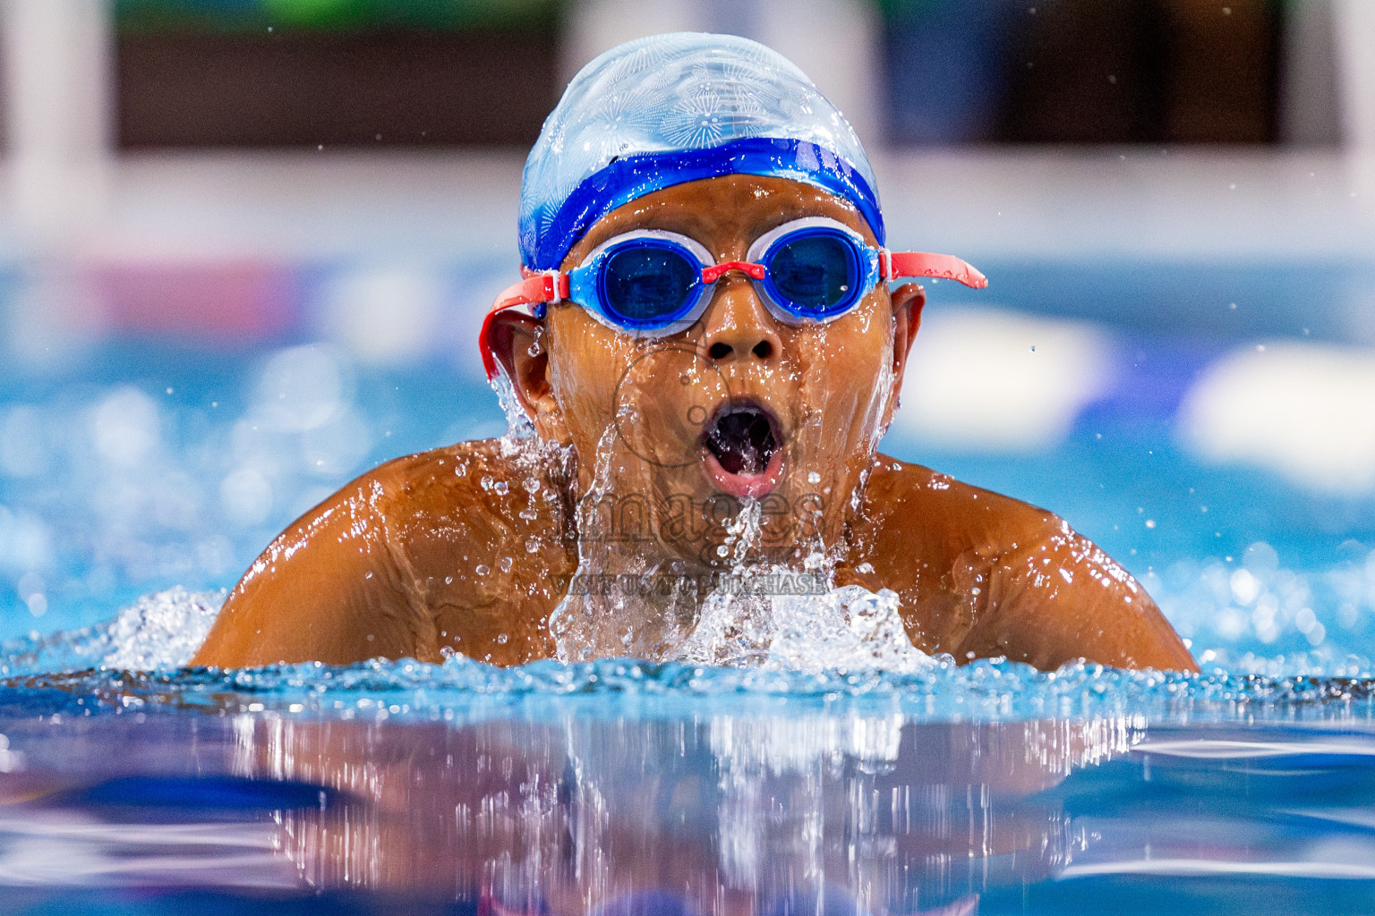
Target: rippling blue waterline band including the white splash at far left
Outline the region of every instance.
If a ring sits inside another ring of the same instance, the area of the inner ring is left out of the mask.
[[[1375,718],[1370,659],[1317,654],[1218,656],[1200,674],[1126,672],[1092,663],[1038,672],[1005,659],[917,670],[825,672],[678,662],[554,661],[495,667],[454,656],[439,665],[184,667],[223,593],[170,589],[102,626],[10,643],[0,658],[0,714],[275,711],[338,718],[470,720],[583,702],[588,714],[679,715],[718,705],[881,705],[912,721],[1134,717],[1144,722]]]

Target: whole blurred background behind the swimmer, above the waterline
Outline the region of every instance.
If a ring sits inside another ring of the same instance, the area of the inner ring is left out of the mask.
[[[6,0],[0,637],[230,586],[505,428],[525,151],[641,34],[777,48],[949,251],[884,449],[1045,505],[1204,662],[1375,655],[1370,0]],[[1306,659],[1306,661],[1305,661]]]

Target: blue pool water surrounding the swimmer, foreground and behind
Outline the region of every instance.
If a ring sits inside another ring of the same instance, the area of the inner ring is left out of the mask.
[[[1302,271],[1048,269],[1002,276],[1106,328],[1111,383],[1053,441],[884,449],[1060,512],[1200,676],[180,670],[292,518],[499,434],[496,401],[443,350],[30,353],[0,376],[4,909],[1375,912],[1375,494],[1209,459],[1178,419],[1229,353],[1345,325]],[[968,305],[942,295],[934,330]]]

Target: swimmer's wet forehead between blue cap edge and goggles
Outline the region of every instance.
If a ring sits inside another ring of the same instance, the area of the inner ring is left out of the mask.
[[[612,210],[578,240],[564,266],[582,262],[598,244],[631,229],[667,229],[696,239],[726,258],[777,225],[808,216],[825,216],[877,244],[869,224],[844,198],[786,179],[727,174],[675,184]]]

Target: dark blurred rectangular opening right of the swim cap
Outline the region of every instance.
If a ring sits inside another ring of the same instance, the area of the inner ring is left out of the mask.
[[[899,143],[1273,143],[1279,0],[884,0]]]

